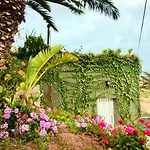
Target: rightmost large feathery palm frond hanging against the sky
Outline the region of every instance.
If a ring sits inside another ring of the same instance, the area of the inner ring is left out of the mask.
[[[83,7],[87,7],[93,11],[104,13],[106,16],[112,17],[114,20],[119,18],[119,10],[110,0],[80,0]]]

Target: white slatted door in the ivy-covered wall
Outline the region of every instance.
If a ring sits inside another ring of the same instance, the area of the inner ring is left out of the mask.
[[[98,115],[108,123],[114,125],[114,102],[109,99],[97,100]]]

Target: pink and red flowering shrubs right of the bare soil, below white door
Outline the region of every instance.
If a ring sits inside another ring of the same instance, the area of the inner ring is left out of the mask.
[[[89,117],[87,114],[83,118],[75,116],[75,124],[80,131],[96,135],[105,148],[114,150],[148,149],[146,144],[148,136],[150,136],[150,122],[140,119],[135,125],[126,124],[124,120],[119,120],[118,123],[114,128],[98,116]],[[145,128],[141,128],[141,125]]]

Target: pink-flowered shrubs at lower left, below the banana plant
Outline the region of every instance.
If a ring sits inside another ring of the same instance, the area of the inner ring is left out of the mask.
[[[35,137],[43,137],[48,133],[55,134],[58,128],[64,124],[58,123],[55,119],[48,116],[50,108],[39,109],[32,112],[23,111],[23,108],[9,108],[5,106],[2,117],[0,118],[0,139],[9,136],[20,134],[20,138],[24,140],[31,140]]]

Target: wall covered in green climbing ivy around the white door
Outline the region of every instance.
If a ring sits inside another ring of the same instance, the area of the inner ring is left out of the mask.
[[[74,53],[78,62],[55,69],[52,81],[61,95],[64,109],[83,113],[96,108],[99,98],[115,98],[122,118],[130,118],[130,105],[139,107],[140,60],[121,55],[120,50],[104,50],[100,55]],[[59,72],[59,73],[58,73]],[[52,79],[52,78],[51,78]],[[140,110],[140,109],[139,109]]]

